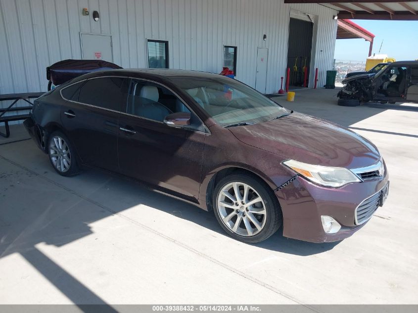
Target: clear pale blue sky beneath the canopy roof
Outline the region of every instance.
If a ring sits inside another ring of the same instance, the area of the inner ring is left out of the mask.
[[[418,59],[418,21],[353,20],[374,34],[372,53],[394,57],[397,61]],[[364,39],[337,39],[334,58],[365,62],[370,43]],[[372,54],[373,55],[373,54]]]

